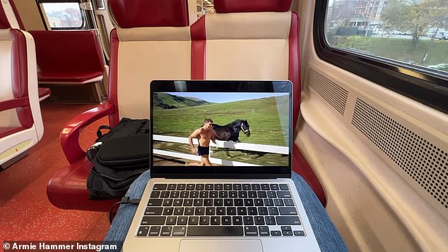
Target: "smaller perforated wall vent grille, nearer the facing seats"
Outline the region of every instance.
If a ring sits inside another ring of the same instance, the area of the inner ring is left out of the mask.
[[[333,108],[341,115],[344,114],[347,104],[348,91],[339,87],[338,84],[331,82],[316,70],[308,68],[308,83],[317,94],[322,96]]]

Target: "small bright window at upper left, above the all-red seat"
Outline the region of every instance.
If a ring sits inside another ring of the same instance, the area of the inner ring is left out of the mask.
[[[78,3],[42,3],[52,30],[83,29],[85,18]]]

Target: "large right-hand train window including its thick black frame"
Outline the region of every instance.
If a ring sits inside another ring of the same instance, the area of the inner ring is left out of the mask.
[[[448,1],[316,0],[319,58],[448,113]]]

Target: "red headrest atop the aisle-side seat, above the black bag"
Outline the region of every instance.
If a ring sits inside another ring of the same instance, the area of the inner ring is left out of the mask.
[[[184,27],[189,25],[187,0],[109,0],[119,27]]]

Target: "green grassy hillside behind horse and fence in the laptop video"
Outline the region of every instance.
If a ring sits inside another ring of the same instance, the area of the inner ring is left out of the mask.
[[[218,125],[243,119],[249,123],[251,135],[246,137],[240,132],[241,142],[288,146],[287,102],[287,96],[277,96],[188,108],[159,109],[154,111],[153,132],[167,136],[189,137],[191,132],[202,127],[205,118],[211,118],[213,123]],[[154,148],[190,153],[188,144],[155,142]],[[288,156],[281,154],[213,148],[211,156],[259,165],[278,165],[278,162],[288,165]]]

